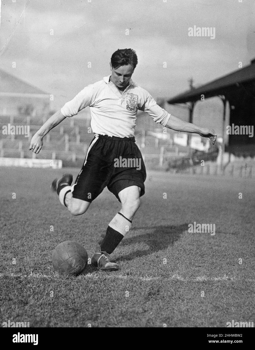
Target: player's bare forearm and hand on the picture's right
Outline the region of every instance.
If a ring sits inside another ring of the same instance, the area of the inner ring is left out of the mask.
[[[217,138],[217,134],[213,129],[201,128],[195,124],[187,123],[186,121],[183,121],[172,114],[165,126],[176,131],[191,132],[199,134],[203,137],[208,137],[212,141],[213,145]]]

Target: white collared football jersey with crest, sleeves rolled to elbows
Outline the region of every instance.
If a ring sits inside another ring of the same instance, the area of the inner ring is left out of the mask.
[[[170,114],[156,104],[148,91],[130,79],[121,93],[110,77],[84,87],[61,108],[61,113],[72,117],[89,106],[93,133],[117,137],[134,137],[138,110],[147,112],[156,123],[167,124]]]

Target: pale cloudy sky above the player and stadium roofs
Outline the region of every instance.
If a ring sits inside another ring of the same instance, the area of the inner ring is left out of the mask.
[[[190,77],[198,86],[249,64],[254,14],[253,0],[1,0],[0,67],[53,94],[58,109],[111,73],[115,50],[132,48],[132,79],[170,98]],[[215,38],[189,36],[194,26]]]

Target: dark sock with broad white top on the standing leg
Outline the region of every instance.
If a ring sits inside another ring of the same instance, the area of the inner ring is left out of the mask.
[[[130,230],[131,224],[132,221],[123,214],[120,212],[116,214],[107,227],[105,238],[100,245],[101,251],[111,254]]]

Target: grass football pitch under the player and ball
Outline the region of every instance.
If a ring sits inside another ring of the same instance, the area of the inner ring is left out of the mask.
[[[78,171],[71,169],[74,177]],[[105,189],[84,215],[72,216],[49,190],[62,173],[0,168],[0,326],[255,321],[254,180],[148,172],[133,228],[111,254],[120,271],[88,265],[84,274],[64,278],[52,271],[55,246],[75,240],[92,257],[120,204]],[[215,224],[215,235],[189,233],[193,222]]]

